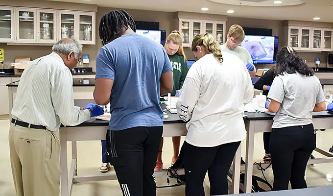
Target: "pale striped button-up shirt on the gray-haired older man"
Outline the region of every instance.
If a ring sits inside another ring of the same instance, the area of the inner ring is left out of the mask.
[[[72,84],[71,71],[56,52],[30,62],[21,76],[12,116],[53,132],[61,123],[74,126],[89,120],[89,110],[74,106]]]

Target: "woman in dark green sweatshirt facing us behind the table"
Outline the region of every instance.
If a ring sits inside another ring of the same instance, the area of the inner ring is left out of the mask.
[[[176,95],[177,90],[181,90],[183,83],[186,78],[186,74],[189,71],[186,55],[183,50],[182,45],[182,36],[180,32],[174,30],[169,34],[166,38],[166,45],[164,47],[166,49],[166,53],[170,59],[173,73],[173,89],[170,92],[171,96],[179,96]],[[179,147],[180,147],[180,136],[172,137],[173,144],[173,157],[171,160],[171,164],[176,162],[179,155]],[[163,169],[162,162],[162,148],[163,148],[163,138],[161,139],[160,151],[157,157],[155,171],[159,171]]]

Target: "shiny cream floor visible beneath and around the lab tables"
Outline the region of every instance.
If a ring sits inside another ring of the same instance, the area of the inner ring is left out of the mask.
[[[9,162],[9,147],[8,147],[8,129],[9,121],[0,121],[0,196],[15,196],[13,186],[12,174]],[[326,130],[325,132],[317,132],[317,146],[325,150],[329,149],[333,144],[333,130]],[[183,138],[184,140],[184,138]],[[163,149],[163,160],[165,168],[170,166],[172,156],[172,142],[171,138],[166,138]],[[257,133],[255,138],[255,157],[256,162],[262,161],[263,157],[263,144],[262,134]],[[71,147],[71,146],[69,146]],[[93,174],[98,173],[101,165],[101,146],[100,141],[78,142],[78,172],[80,174]],[[71,150],[71,149],[69,149]],[[69,160],[70,159],[69,153]],[[245,143],[242,145],[242,155],[245,155]],[[318,153],[314,152],[314,156],[321,157]],[[114,172],[114,171],[110,171]],[[262,173],[254,169],[254,174],[262,177]],[[273,174],[272,170],[268,169],[264,172],[267,180],[272,184]],[[333,186],[333,164],[319,164],[309,166],[306,172],[306,179],[309,187],[312,186]],[[157,185],[166,185],[166,178],[159,178]],[[209,181],[206,178],[205,183],[206,195],[209,194]],[[99,181],[99,182],[86,182],[73,185],[72,196],[121,196],[121,191],[117,180]],[[184,196],[185,186],[173,188],[159,188],[157,190],[158,196]]]

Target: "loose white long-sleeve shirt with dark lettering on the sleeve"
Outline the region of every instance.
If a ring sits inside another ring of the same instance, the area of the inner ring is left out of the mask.
[[[186,142],[196,147],[215,147],[246,137],[242,118],[251,101],[250,75],[235,55],[222,52],[220,63],[206,54],[190,68],[177,102],[179,117],[187,126]]]

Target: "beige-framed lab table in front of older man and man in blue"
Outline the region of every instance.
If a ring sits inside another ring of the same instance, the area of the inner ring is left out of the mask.
[[[75,105],[83,106],[94,100],[75,100]],[[161,105],[165,108],[165,105]],[[166,111],[168,118],[164,119],[163,125],[163,137],[172,136],[185,136],[187,134],[186,123],[182,121],[177,114],[171,114]],[[61,126],[59,129],[60,135],[60,179],[61,179],[61,196],[70,196],[72,184],[79,182],[91,182],[100,180],[115,180],[117,179],[116,173],[98,173],[90,175],[80,175],[77,170],[77,141],[91,141],[91,140],[102,140],[105,139],[106,131],[109,122],[95,120],[93,122],[81,123],[77,126]],[[71,165],[68,170],[67,160],[67,142],[71,142]],[[239,172],[240,172],[240,148],[235,156],[234,164],[232,166],[232,192],[235,194],[239,193]],[[184,170],[180,169],[178,174],[184,174]],[[157,171],[154,173],[155,177],[166,176],[166,171]],[[234,183],[235,182],[235,183]]]

